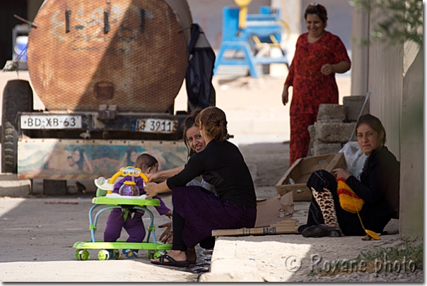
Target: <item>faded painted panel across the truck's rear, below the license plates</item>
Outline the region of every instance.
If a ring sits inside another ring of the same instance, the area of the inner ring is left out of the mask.
[[[187,148],[177,141],[23,139],[18,141],[18,178],[111,177],[121,167],[134,166],[141,153],[156,157],[159,170],[187,162]]]

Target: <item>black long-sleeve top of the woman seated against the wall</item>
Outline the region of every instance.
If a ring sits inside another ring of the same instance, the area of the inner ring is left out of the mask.
[[[360,179],[350,176],[346,182],[378,215],[399,218],[400,163],[387,147],[370,154]]]

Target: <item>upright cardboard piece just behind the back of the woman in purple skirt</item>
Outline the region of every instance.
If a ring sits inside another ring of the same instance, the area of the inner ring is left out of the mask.
[[[281,211],[282,210],[282,211]],[[257,201],[257,221],[255,227],[267,227],[293,215],[293,193],[274,196],[268,200]]]

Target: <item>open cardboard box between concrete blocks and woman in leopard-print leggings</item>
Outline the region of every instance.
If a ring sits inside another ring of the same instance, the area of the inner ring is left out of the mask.
[[[347,168],[344,153],[299,158],[276,184],[276,191],[279,195],[292,192],[293,201],[311,201],[311,191],[306,184],[312,172],[318,169],[331,172],[335,168]],[[289,179],[293,180],[293,184]]]

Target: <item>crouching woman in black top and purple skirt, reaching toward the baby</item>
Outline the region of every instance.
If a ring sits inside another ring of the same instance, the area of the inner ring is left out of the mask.
[[[226,114],[218,107],[207,107],[196,123],[206,148],[192,155],[180,173],[144,188],[148,197],[172,190],[172,251],[153,259],[154,264],[187,267],[185,251],[209,239],[212,230],[255,226],[255,187],[240,150],[226,140]],[[214,192],[185,186],[200,175],[214,185]]]

